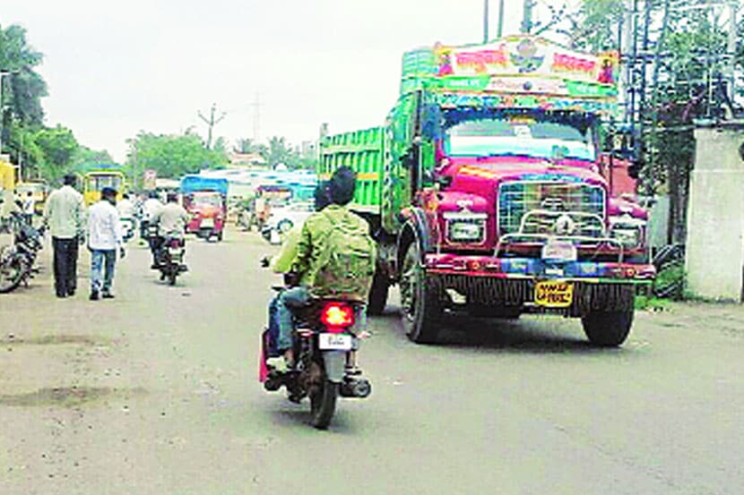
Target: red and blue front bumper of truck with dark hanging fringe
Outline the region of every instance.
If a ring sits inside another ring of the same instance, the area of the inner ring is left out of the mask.
[[[425,259],[427,283],[442,303],[452,305],[451,291],[468,305],[561,312],[584,316],[592,311],[625,311],[632,307],[636,286],[651,283],[653,265],[594,261],[553,262],[532,258],[430,254]],[[562,305],[536,302],[538,283],[555,280],[571,286]]]

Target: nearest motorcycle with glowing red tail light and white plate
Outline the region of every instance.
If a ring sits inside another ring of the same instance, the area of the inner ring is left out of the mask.
[[[277,288],[277,290],[281,290]],[[314,300],[297,312],[292,334],[296,366],[280,372],[268,366],[273,350],[266,329],[262,338],[259,379],[270,392],[287,388],[290,401],[310,399],[311,424],[328,428],[337,397],[369,397],[372,386],[356,365],[359,338],[353,331],[356,308],[343,301]]]

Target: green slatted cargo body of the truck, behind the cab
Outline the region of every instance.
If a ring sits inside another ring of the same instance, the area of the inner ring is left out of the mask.
[[[357,173],[357,192],[353,209],[379,213],[384,163],[382,127],[327,136],[320,142],[318,176],[327,180],[339,166],[350,166]]]

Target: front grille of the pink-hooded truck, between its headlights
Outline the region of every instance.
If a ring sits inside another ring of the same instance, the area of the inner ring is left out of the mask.
[[[570,218],[570,233],[560,232]],[[498,191],[498,235],[604,235],[605,193],[587,183],[502,183]]]

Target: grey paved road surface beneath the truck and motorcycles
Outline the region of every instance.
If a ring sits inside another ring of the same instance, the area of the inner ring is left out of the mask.
[[[188,250],[175,287],[133,245],[116,300],[56,300],[48,275],[0,296],[0,493],[742,491],[741,307],[644,312],[596,350],[545,317],[414,346],[392,304],[361,355],[372,397],[315,431],[255,379],[269,246]]]

